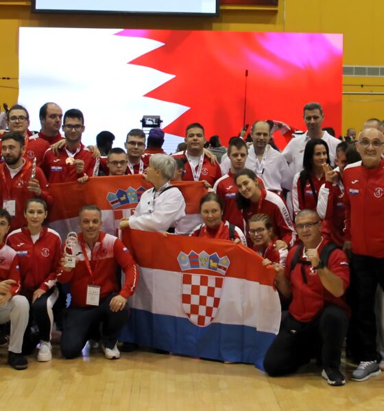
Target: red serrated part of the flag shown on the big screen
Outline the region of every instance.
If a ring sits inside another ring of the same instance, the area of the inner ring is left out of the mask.
[[[245,123],[277,119],[303,129],[302,108],[324,107],[324,127],[341,132],[342,35],[255,32],[123,30],[163,43],[130,64],[175,77],[148,97],[189,107],[165,131],[179,136],[189,123],[224,141]]]

